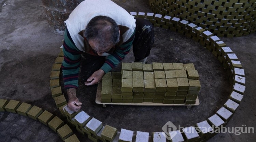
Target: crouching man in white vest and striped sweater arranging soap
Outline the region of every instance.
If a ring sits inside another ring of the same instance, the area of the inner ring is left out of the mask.
[[[62,73],[73,111],[82,105],[76,97],[80,65],[82,83],[94,85],[124,59],[132,45],[134,62],[145,63],[154,42],[149,21],[134,19],[110,0],[81,2],[65,23]]]

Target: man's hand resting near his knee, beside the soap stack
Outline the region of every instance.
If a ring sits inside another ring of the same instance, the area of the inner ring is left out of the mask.
[[[85,85],[94,85],[100,82],[101,78],[105,75],[105,72],[102,69],[97,70],[93,73],[88,79],[87,82],[84,82]]]

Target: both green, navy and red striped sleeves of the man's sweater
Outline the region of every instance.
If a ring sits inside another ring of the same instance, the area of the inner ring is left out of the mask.
[[[104,70],[105,73],[108,73],[112,68],[119,64],[120,61],[125,58],[125,55],[129,53],[132,42],[134,40],[134,36],[135,30],[128,41],[124,42],[120,46],[116,46],[113,54],[109,55],[106,58],[105,63],[101,67],[101,69]],[[61,66],[65,89],[78,88],[78,78],[82,52],[83,51],[80,51],[75,46],[68,29],[66,29],[63,42],[64,60]]]

